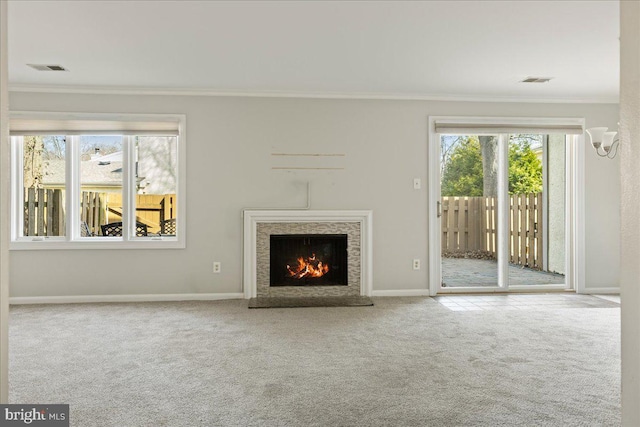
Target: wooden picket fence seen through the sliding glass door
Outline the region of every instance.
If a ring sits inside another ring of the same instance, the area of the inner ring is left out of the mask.
[[[442,198],[442,253],[497,257],[497,198]],[[542,193],[509,197],[509,262],[542,269]]]

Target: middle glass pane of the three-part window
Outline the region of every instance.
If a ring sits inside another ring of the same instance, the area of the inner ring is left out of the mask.
[[[80,235],[122,236],[122,137],[80,137]]]

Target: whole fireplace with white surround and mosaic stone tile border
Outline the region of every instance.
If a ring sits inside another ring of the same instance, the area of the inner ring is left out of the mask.
[[[245,210],[243,214],[243,285],[247,299],[371,296],[371,211]],[[278,241],[289,238],[293,242],[285,244]],[[298,253],[299,247],[295,251],[287,249],[291,243],[302,246],[303,251]],[[278,249],[279,245],[284,246],[281,249],[285,254],[281,255],[284,259],[276,262],[272,258],[272,249]],[[329,253],[333,254],[325,260],[327,245]],[[341,257],[346,260],[341,260]],[[304,279],[308,274],[300,274],[305,267],[299,267],[298,258],[310,262],[314,268],[319,268],[319,261],[323,266],[328,265],[329,269],[323,275],[326,277],[321,277],[321,280]],[[280,267],[272,268],[272,261]],[[292,281],[283,277],[284,274],[291,275],[287,265],[294,276],[298,274],[302,280]],[[278,269],[278,275],[273,276],[272,270]],[[275,280],[276,277],[281,280]]]

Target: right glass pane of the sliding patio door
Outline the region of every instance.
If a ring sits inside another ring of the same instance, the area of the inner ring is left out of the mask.
[[[511,286],[565,282],[565,153],[564,135],[509,138]]]

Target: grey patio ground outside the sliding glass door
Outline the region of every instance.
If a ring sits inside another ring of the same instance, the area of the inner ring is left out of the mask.
[[[442,258],[442,282],[447,288],[497,286],[498,263],[495,260]],[[509,285],[564,284],[564,275],[509,264]]]

